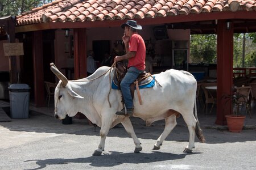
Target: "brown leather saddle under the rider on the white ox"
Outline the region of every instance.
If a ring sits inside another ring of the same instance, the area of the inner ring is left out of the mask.
[[[121,83],[122,79],[125,77],[126,73],[127,73],[127,65],[125,65],[123,62],[115,63],[113,83],[118,87],[119,90],[121,90],[120,83]],[[131,83],[131,85],[130,85],[131,97],[134,97],[134,91],[135,91],[135,87],[136,87],[137,94],[139,97],[139,102],[140,102],[140,104],[142,104],[141,94],[139,93],[139,86],[144,86],[145,84],[150,83],[153,79],[154,78],[152,77],[152,75],[150,73],[146,73],[146,71],[139,74],[139,76],[135,80],[135,82]],[[122,97],[122,103],[124,103],[123,97]]]

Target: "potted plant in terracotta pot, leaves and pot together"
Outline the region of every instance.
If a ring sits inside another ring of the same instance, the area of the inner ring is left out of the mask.
[[[247,101],[247,96],[235,91],[232,95],[224,95],[223,97],[224,99],[228,99],[225,101],[225,104],[229,100],[232,100],[233,104],[233,114],[227,114],[225,116],[229,131],[241,132],[245,121],[245,116],[239,114],[239,105],[240,101]]]

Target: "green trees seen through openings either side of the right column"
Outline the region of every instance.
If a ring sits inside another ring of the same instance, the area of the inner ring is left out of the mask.
[[[256,66],[256,33],[234,33],[233,66]],[[190,58],[192,63],[216,63],[217,35],[191,35]]]

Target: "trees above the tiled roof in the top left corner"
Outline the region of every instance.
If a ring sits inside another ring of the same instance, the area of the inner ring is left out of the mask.
[[[19,15],[23,12],[32,10],[32,8],[42,6],[44,3],[49,2],[52,2],[52,0],[1,0],[0,17]]]

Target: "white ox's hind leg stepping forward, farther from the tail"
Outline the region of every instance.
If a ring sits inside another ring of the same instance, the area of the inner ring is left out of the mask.
[[[165,120],[166,120],[166,126],[164,128],[164,131],[160,135],[158,140],[156,141],[153,150],[159,150],[160,149],[160,146],[162,146],[163,141],[171,133],[172,129],[174,129],[174,127],[177,125],[175,114],[172,114],[171,116],[167,117]]]

